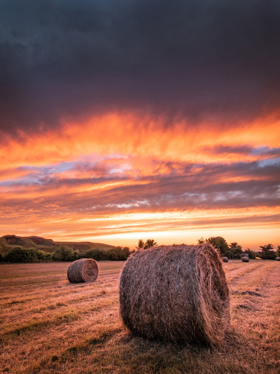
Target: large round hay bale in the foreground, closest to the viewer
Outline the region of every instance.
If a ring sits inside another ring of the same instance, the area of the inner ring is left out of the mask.
[[[139,249],[119,282],[120,314],[133,334],[219,345],[230,322],[220,255],[208,243]]]

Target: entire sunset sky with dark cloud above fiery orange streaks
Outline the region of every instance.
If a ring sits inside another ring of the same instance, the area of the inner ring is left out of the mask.
[[[0,236],[280,244],[280,4],[2,0]]]

